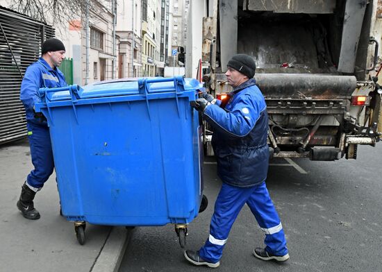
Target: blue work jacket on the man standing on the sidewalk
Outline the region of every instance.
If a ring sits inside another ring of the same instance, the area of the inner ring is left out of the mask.
[[[47,120],[43,117],[36,117],[33,110],[35,103],[40,101],[38,90],[41,87],[53,88],[65,86],[67,86],[65,76],[57,67],[52,69],[43,58],[33,62],[26,69],[20,90],[20,100],[26,111],[26,120],[34,124],[47,126]]]

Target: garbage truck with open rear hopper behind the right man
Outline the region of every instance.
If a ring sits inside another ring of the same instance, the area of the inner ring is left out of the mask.
[[[236,53],[254,58],[273,157],[356,159],[358,145],[379,142],[382,29],[374,26],[381,0],[214,0],[204,6],[201,80],[224,99],[232,90],[224,75],[229,59]],[[209,155],[211,134],[206,125]]]

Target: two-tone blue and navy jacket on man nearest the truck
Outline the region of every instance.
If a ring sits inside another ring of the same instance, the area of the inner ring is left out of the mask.
[[[229,94],[224,109],[215,103],[204,110],[213,128],[217,174],[223,182],[237,187],[258,185],[267,178],[267,105],[255,84],[251,78],[238,86]]]

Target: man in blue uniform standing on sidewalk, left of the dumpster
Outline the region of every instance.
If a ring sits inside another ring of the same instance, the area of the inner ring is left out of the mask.
[[[65,87],[65,76],[58,69],[65,56],[65,46],[58,39],[47,39],[41,48],[42,56],[25,72],[20,90],[20,99],[26,111],[28,141],[34,169],[28,174],[17,207],[26,219],[39,219],[40,213],[33,205],[36,192],[44,186],[53,173],[54,162],[47,119],[35,112],[35,103],[40,101],[40,87]]]

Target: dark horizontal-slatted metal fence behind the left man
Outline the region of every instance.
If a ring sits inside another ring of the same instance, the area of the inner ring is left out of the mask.
[[[51,26],[0,6],[0,144],[26,136],[22,77],[38,60],[42,41],[53,36]]]

